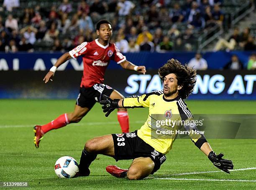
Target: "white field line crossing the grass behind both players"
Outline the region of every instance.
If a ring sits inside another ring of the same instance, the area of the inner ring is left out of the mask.
[[[141,123],[145,121],[134,121],[131,124]],[[88,125],[113,125],[119,124],[118,122],[85,122],[85,123],[73,123],[72,126],[88,126]],[[0,128],[18,128],[18,127],[33,127],[35,124],[24,124],[24,125],[0,125]]]

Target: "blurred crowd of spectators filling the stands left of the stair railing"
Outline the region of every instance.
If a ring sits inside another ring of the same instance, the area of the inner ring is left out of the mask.
[[[67,51],[95,39],[95,23],[106,17],[113,23],[111,42],[123,53],[191,51],[198,37],[195,34],[214,25],[221,27],[224,17],[222,0],[186,0],[182,5],[171,0],[59,3],[49,9],[40,2],[22,8],[19,0],[4,0],[0,13],[8,12],[8,16],[0,17],[0,51],[32,52],[44,46]],[[15,17],[12,13],[17,9],[22,14]]]

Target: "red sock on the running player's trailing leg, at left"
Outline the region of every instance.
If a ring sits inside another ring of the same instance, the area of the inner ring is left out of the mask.
[[[67,114],[62,114],[57,119],[54,119],[50,123],[46,125],[42,125],[41,132],[45,134],[52,129],[59,129],[60,127],[64,127],[67,124],[69,124],[69,119],[67,118]]]

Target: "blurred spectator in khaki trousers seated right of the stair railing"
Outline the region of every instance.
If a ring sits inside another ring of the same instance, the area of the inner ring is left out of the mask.
[[[220,38],[218,42],[215,45],[214,51],[219,51],[222,48],[227,48],[228,51],[233,50],[240,42],[240,35],[239,35],[239,29],[235,28],[233,35],[230,36],[228,41],[226,41],[224,38]]]

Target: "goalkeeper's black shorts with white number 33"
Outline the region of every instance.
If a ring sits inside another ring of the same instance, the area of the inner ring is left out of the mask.
[[[115,148],[115,160],[130,160],[138,157],[150,157],[155,163],[153,174],[159,170],[166,157],[161,152],[156,151],[149,144],[144,142],[137,135],[137,131],[121,134],[112,134]]]

